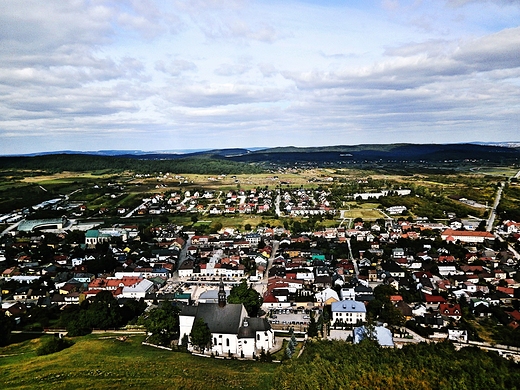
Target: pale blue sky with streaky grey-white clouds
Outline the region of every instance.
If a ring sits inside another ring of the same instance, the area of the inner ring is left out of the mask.
[[[0,154],[520,141],[520,0],[2,0]]]

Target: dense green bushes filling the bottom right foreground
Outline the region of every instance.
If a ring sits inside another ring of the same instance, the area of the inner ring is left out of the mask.
[[[517,389],[518,364],[450,342],[386,349],[376,342],[309,341],[275,373],[273,389]]]

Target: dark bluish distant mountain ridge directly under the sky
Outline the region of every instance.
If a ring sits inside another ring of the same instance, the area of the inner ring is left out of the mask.
[[[235,163],[294,164],[308,163],[313,165],[342,164],[344,162],[443,162],[479,160],[490,162],[520,161],[520,143],[461,143],[461,144],[363,144],[335,145],[320,147],[276,147],[276,148],[230,148],[213,150],[185,150],[144,152],[141,150],[101,150],[97,152],[62,151],[25,156],[0,157],[7,159],[37,158],[49,156],[91,156],[115,160],[190,160],[205,159],[209,161],[226,160]],[[56,157],[58,158],[58,157]],[[115,163],[114,160],[114,163]]]

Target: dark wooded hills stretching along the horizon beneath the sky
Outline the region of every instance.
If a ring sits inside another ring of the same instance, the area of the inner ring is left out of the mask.
[[[61,152],[31,156],[0,157],[0,168],[47,170],[134,170],[178,173],[255,173],[276,165],[401,166],[403,162],[440,165],[481,161],[511,164],[520,161],[520,147],[484,144],[383,144],[326,147],[278,147],[268,149],[214,149],[189,153],[98,151]]]

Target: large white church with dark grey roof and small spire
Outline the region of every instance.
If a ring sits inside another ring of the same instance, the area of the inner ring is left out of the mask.
[[[262,350],[274,346],[274,331],[265,318],[247,317],[242,304],[226,303],[224,284],[220,282],[218,303],[199,303],[184,306],[179,315],[180,338],[182,344],[189,340],[193,324],[202,318],[211,332],[212,353],[217,355],[243,355],[255,357]],[[188,344],[193,350],[193,345]]]

